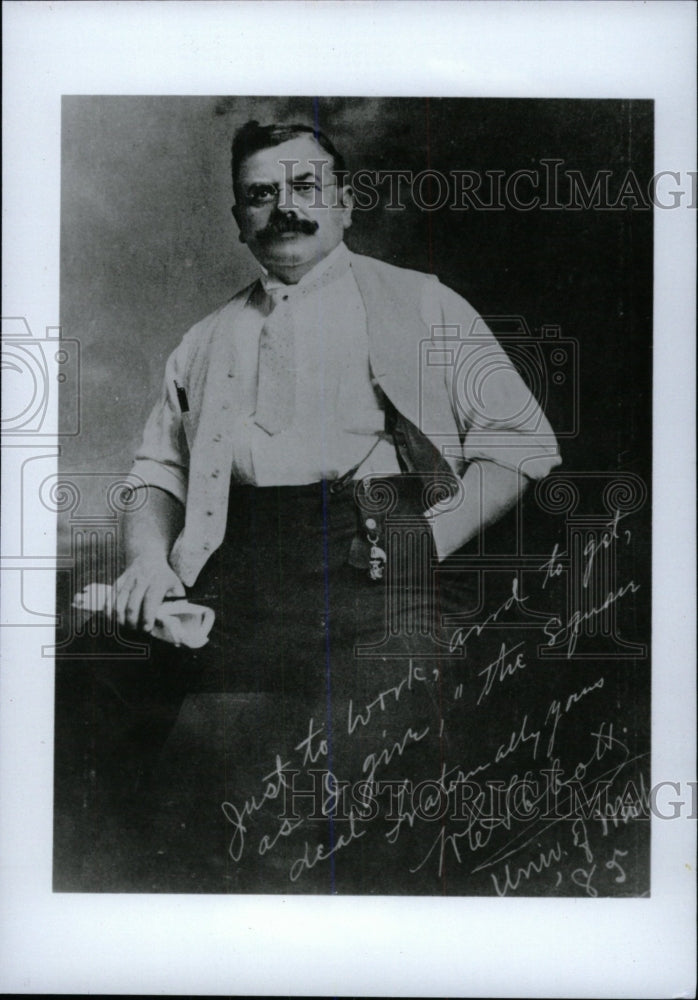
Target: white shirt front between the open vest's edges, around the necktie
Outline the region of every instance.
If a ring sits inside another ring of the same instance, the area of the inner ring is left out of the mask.
[[[323,272],[327,284],[299,294]],[[353,468],[383,431],[379,392],[371,381],[366,310],[343,243],[296,285],[265,274],[232,333],[235,392],[233,479],[256,486],[299,485],[334,479]],[[290,425],[270,435],[255,423],[259,338],[272,294],[289,295],[295,331],[295,405]],[[395,449],[381,440],[360,474],[398,473]]]

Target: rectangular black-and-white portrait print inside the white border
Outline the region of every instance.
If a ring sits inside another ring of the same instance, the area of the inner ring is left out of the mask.
[[[56,892],[650,894],[653,135],[62,98]]]

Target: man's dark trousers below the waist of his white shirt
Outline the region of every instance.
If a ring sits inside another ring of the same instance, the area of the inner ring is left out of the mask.
[[[336,493],[327,483],[234,487],[225,541],[190,592],[216,613],[193,654],[202,689],[313,700],[359,682],[357,656],[371,646],[379,660],[416,652],[433,610],[420,500],[419,480],[407,477],[376,481],[369,494],[353,483]],[[369,538],[388,556],[384,568],[376,560],[378,579]]]

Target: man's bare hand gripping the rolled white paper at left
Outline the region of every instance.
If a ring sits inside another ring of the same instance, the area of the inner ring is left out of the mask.
[[[166,559],[137,556],[114,584],[117,621],[150,632],[163,599],[185,596],[182,581]]]

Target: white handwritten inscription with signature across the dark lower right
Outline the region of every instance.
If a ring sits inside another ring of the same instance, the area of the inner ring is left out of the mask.
[[[233,862],[250,850],[259,858],[279,855],[295,884],[355,849],[372,857],[381,844],[385,851],[409,845],[406,876],[443,880],[462,872],[465,892],[468,879],[498,897],[624,891],[632,839],[612,838],[646,816],[645,761],[631,751],[603,700],[608,672],[589,676],[582,668],[574,684],[567,662],[585,629],[640,589],[631,579],[591,599],[601,554],[630,544],[621,520],[616,513],[584,545],[578,593],[585,596],[577,608],[541,614],[534,610],[535,588],[529,584],[524,593],[517,576],[493,611],[452,632],[453,669],[408,659],[394,680],[348,699],[334,728],[311,715],[292,751],[277,754],[258,792],[222,804]],[[564,583],[566,562],[556,544],[539,567],[540,593],[548,599]],[[522,618],[529,631],[512,639]],[[560,648],[564,667],[557,675],[549,670],[544,682],[543,667],[530,655],[541,638]],[[531,686],[538,691],[533,700]],[[477,715],[483,710],[486,727]],[[486,744],[469,745],[473,723],[487,732]],[[417,780],[411,769],[423,746],[432,755],[425,761],[434,759],[435,748],[440,761]],[[581,752],[571,753],[572,746]],[[335,772],[337,759],[354,760],[354,770],[345,773],[340,764]]]

